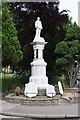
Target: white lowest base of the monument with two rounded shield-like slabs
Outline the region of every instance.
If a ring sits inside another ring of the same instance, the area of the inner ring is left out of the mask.
[[[45,94],[48,97],[53,97],[56,95],[54,86],[49,84],[36,84],[34,82],[29,82],[28,84],[25,84],[24,94],[25,96],[32,98],[37,96],[39,94],[39,91],[43,89],[45,89]]]

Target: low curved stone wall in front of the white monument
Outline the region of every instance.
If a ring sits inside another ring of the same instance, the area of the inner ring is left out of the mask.
[[[25,97],[25,96],[13,96],[8,95],[6,96],[6,101],[10,102],[10,103],[17,103],[17,104],[23,104],[23,105],[37,105],[37,106],[51,106],[51,105],[58,105],[58,100],[59,100],[59,96],[57,97],[47,97],[47,96],[36,96],[33,98],[29,98],[29,97]]]

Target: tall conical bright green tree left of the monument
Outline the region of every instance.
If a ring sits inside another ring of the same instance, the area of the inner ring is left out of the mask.
[[[2,3],[2,42],[3,66],[18,63],[22,58],[22,51],[13,22],[13,15],[6,3]]]

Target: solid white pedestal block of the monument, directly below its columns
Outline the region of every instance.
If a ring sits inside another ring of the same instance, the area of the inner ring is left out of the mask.
[[[48,84],[48,78],[46,76],[46,63],[44,60],[34,60],[31,63],[31,77],[29,78],[30,82],[35,82],[38,87],[42,84]]]

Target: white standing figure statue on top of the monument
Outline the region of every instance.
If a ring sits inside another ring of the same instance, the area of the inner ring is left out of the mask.
[[[42,23],[40,21],[40,17],[37,17],[37,20],[35,21],[35,28],[36,28],[36,37],[40,37],[42,28]]]

